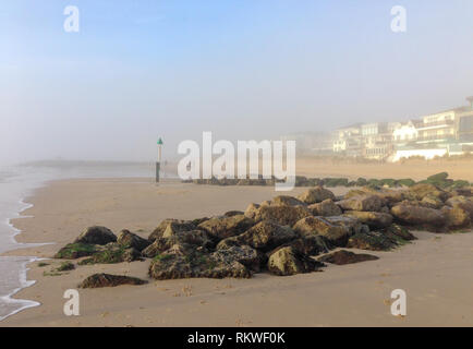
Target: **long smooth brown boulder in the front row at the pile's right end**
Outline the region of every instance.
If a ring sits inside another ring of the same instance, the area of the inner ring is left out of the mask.
[[[411,226],[442,228],[447,222],[446,216],[441,210],[427,207],[397,205],[391,208],[391,214],[399,221]]]

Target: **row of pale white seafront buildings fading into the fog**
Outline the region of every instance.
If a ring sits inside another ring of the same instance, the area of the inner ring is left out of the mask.
[[[407,122],[356,123],[333,132],[333,153],[378,160],[473,152],[473,97],[469,106]]]

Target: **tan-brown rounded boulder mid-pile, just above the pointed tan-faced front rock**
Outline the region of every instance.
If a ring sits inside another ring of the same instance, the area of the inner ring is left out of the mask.
[[[302,237],[323,236],[337,246],[343,246],[350,236],[348,227],[331,224],[324,217],[302,218],[294,225],[293,229]]]

